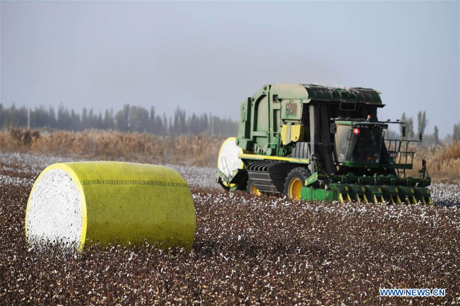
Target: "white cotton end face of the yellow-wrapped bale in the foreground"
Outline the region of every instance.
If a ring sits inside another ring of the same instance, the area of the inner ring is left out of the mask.
[[[64,170],[52,169],[37,180],[27,215],[28,240],[32,245],[59,242],[70,247],[79,246],[82,232],[80,194]]]

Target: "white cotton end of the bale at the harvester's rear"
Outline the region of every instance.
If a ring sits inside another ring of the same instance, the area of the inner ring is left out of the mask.
[[[227,138],[219,151],[217,169],[228,177],[233,176],[238,169],[243,169],[245,166],[238,157],[238,154],[242,153],[243,149],[236,145],[236,137]]]

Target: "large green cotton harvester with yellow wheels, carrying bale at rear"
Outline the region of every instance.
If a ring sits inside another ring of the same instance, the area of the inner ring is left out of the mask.
[[[284,193],[290,199],[431,204],[422,161],[412,169],[410,144],[385,139],[379,92],[305,84],[265,85],[240,106],[237,137],[225,140],[217,181],[229,191]]]

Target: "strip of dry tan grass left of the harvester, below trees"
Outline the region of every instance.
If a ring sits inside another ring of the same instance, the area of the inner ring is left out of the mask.
[[[207,135],[154,136],[146,133],[87,130],[0,131],[2,151],[36,152],[53,155],[76,155],[103,160],[215,166],[223,137]]]

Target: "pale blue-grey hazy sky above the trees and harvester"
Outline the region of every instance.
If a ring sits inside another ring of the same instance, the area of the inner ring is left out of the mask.
[[[459,2],[0,2],[0,99],[237,118],[263,84],[371,87],[460,118]]]

